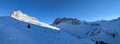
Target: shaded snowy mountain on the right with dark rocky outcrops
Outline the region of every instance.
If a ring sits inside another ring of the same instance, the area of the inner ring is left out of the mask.
[[[80,39],[91,39],[96,44],[120,43],[120,18],[110,21],[86,22],[75,18],[57,18],[53,24]]]

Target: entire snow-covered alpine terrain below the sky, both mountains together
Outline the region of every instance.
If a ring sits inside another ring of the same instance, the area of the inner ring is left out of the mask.
[[[51,26],[21,11],[0,16],[0,44],[95,44],[96,40],[120,43],[119,19],[95,23],[59,20]]]

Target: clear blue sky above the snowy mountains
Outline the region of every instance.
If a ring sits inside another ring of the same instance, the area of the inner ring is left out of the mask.
[[[57,17],[110,20],[120,17],[120,0],[0,0],[0,16],[9,16],[14,10],[49,24]]]

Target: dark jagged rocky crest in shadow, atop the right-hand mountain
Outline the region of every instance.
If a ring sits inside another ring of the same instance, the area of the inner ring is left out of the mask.
[[[60,24],[62,22],[69,22],[69,23],[71,23],[73,25],[79,25],[81,23],[81,21],[79,21],[76,18],[63,17],[63,18],[56,18],[55,21],[53,22],[53,25],[57,25],[57,24]]]

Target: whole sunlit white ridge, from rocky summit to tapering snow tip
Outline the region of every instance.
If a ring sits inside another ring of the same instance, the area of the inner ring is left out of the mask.
[[[27,23],[32,23],[32,24],[35,24],[35,25],[39,25],[39,26],[43,26],[43,27],[47,27],[47,28],[51,28],[51,29],[55,29],[55,30],[60,30],[59,28],[57,27],[54,27],[54,26],[51,26],[49,24],[46,24],[46,23],[43,23],[43,22],[40,22],[38,19],[36,19],[35,17],[31,17],[31,16],[28,16],[24,13],[22,13],[21,11],[14,11],[10,17],[12,18],[15,18],[19,21],[24,21],[24,22],[27,22]]]

